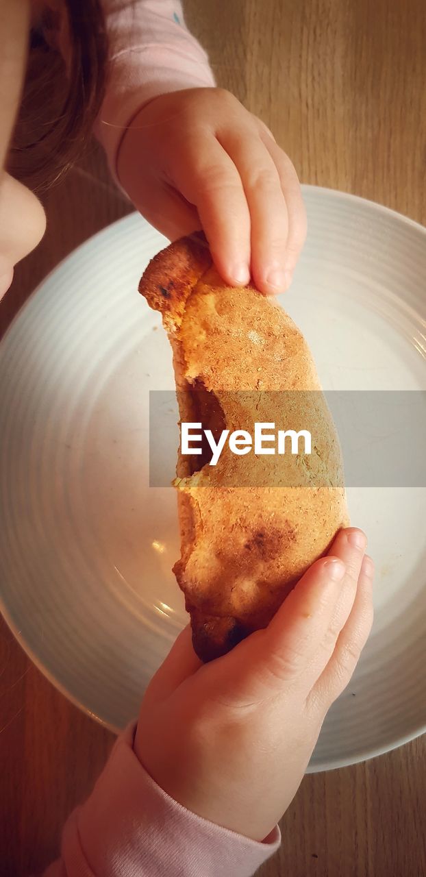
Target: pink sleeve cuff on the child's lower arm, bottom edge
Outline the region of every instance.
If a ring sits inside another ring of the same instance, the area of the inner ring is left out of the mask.
[[[117,739],[88,801],[69,817],[45,877],[250,877],[278,849],[207,822],[170,798]]]

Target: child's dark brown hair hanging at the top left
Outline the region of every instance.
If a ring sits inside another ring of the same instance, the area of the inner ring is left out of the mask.
[[[8,161],[11,174],[38,192],[75,163],[103,101],[108,41],[101,0],[64,0],[62,7],[70,46],[67,68],[51,39],[59,21],[47,9],[39,28],[31,32]]]

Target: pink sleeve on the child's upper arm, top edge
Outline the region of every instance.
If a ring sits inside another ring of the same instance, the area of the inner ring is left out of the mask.
[[[161,94],[214,86],[209,60],[188,32],[179,0],[103,0],[110,73],[96,136],[113,173],[126,125]]]

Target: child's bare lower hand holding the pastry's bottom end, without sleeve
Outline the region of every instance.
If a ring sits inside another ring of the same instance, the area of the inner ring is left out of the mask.
[[[373,620],[366,538],[341,531],[264,631],[202,666],[188,628],[146,691],[135,752],[186,808],[263,840],[299,787]]]

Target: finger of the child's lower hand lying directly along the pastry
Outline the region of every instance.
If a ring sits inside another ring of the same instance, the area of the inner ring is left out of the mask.
[[[278,695],[303,674],[330,625],[344,578],[337,557],[316,560],[265,630],[209,665],[212,696],[248,706]]]

